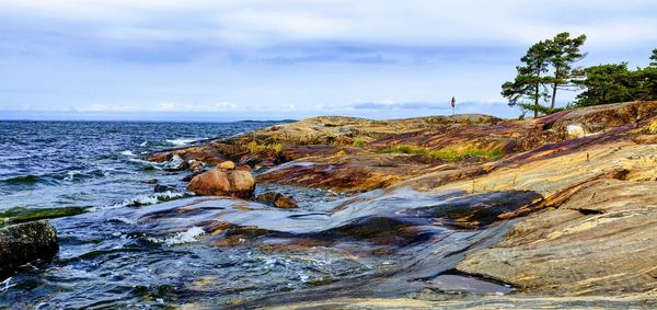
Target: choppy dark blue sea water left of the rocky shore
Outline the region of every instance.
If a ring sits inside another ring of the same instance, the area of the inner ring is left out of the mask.
[[[328,275],[367,271],[367,264],[330,249],[276,254],[212,246],[195,242],[203,234],[198,228],[149,231],[107,213],[185,195],[181,180],[188,172],[166,171],[139,160],[140,154],[272,124],[0,122],[0,213],[87,211],[51,220],[59,254],[0,283],[0,308],[162,308],[201,300],[230,305]],[[153,179],[176,190],[155,194],[149,182]],[[325,193],[313,191],[295,194],[302,207],[326,199]]]

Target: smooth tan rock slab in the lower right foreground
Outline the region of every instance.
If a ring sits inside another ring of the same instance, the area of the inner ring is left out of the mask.
[[[515,225],[461,272],[557,295],[657,289],[657,183],[595,181],[556,209]]]

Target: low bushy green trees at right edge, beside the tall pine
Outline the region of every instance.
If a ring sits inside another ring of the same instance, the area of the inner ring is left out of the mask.
[[[657,67],[627,69],[627,62],[599,65],[581,70],[577,83],[586,91],[576,97],[577,106],[636,100],[657,100]]]

